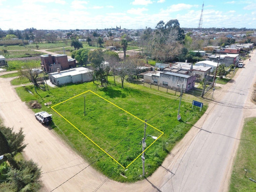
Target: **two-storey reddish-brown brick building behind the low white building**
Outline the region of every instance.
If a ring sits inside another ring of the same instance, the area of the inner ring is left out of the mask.
[[[69,70],[76,67],[76,59],[68,59],[67,55],[41,55],[42,70],[47,73],[57,72],[57,68],[61,71]]]

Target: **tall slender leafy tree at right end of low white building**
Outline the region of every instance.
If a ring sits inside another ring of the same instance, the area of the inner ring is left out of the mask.
[[[95,77],[100,80],[101,86],[103,86],[103,83],[105,81],[104,78],[104,66],[103,66],[103,52],[101,49],[95,49],[93,51],[89,52],[88,55],[89,62],[92,63],[92,67],[95,71]]]

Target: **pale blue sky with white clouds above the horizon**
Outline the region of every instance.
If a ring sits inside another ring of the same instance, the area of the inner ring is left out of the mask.
[[[170,19],[197,28],[203,3],[203,28],[256,28],[256,0],[0,0],[0,28],[145,29]]]

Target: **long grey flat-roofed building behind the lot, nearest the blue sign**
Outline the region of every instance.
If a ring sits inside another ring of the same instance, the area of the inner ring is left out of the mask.
[[[144,82],[157,84],[170,89],[180,89],[183,84],[184,91],[195,87],[196,76],[173,72],[147,71],[142,73]]]

